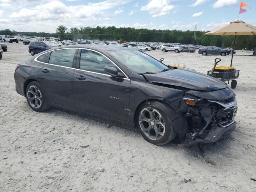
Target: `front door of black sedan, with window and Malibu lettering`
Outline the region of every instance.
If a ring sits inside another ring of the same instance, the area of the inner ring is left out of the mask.
[[[98,52],[81,49],[78,56],[80,62],[77,62],[78,69],[74,73],[75,108],[126,121],[130,80],[126,77],[114,78],[106,74],[105,66],[116,66]]]

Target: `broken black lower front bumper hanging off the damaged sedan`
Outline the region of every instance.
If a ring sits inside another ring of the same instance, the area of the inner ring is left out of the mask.
[[[190,146],[193,146],[196,144],[216,142],[219,139],[228,136],[235,128],[236,128],[236,122],[234,122],[233,124],[231,124],[225,128],[216,126],[208,132],[208,134],[206,135],[206,137],[204,139],[197,138],[196,140],[194,140],[192,142],[184,142],[184,143],[180,144],[180,146],[190,147]]]

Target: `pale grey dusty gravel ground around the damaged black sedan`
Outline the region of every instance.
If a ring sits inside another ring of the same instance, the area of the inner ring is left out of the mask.
[[[34,112],[16,93],[13,77],[14,66],[30,57],[28,46],[7,44],[0,60],[0,191],[256,191],[250,179],[256,179],[256,57],[248,52],[234,56],[241,70],[234,90],[236,130],[204,146],[204,156],[174,143],[154,146],[131,126],[56,108]],[[203,73],[216,58],[159,50],[148,54]],[[228,65],[231,56],[221,58],[220,64]]]

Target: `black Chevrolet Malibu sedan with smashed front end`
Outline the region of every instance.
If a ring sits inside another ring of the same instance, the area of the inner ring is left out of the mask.
[[[226,84],[130,48],[54,48],[18,64],[14,78],[37,112],[55,106],[136,124],[156,145],[176,137],[187,146],[215,142],[236,125],[236,97]]]

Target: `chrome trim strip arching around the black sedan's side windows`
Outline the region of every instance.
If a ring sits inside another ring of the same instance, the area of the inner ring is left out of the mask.
[[[90,51],[97,52],[97,53],[101,54],[102,56],[106,57],[108,60],[110,60],[110,58],[108,58],[108,57],[105,56],[104,54],[102,54],[102,53],[100,53],[100,52],[98,52],[98,51],[96,51],[96,50],[92,50],[92,49],[88,49],[88,48],[61,48],[61,49],[50,50],[50,51],[47,51],[47,52],[45,52],[45,53],[42,53],[42,54],[38,55],[36,58],[34,58],[34,61],[35,61],[35,62],[39,62],[39,63],[43,63],[43,64],[52,65],[52,66],[64,67],[64,68],[69,68],[69,69],[74,69],[74,70],[80,70],[80,71],[85,71],[85,72],[90,72],[90,73],[94,73],[94,74],[99,74],[99,75],[104,75],[104,76],[110,76],[110,77],[111,77],[111,75],[108,75],[108,74],[97,73],[97,72],[92,72],[92,71],[86,71],[86,70],[77,69],[77,68],[72,68],[72,67],[60,66],[60,65],[45,63],[45,62],[41,62],[41,61],[38,61],[38,60],[37,60],[37,58],[40,57],[40,56],[43,55],[43,54],[46,54],[46,53],[52,52],[52,51],[63,50],[63,49],[85,49],[85,50],[90,50]],[[128,78],[128,76],[127,76],[112,60],[110,60],[110,62],[112,62],[112,64],[114,64],[114,65],[126,76],[126,78],[122,78],[122,79],[130,80],[130,79]]]

